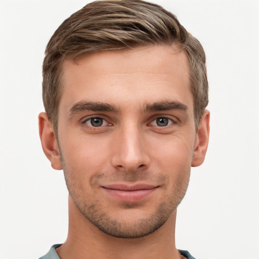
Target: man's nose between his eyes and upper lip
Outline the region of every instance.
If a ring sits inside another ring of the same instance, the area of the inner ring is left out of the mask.
[[[137,126],[123,127],[113,142],[112,165],[120,171],[133,172],[150,165],[148,143]]]

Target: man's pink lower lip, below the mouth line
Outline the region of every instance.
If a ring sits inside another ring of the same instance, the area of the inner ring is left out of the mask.
[[[136,202],[149,197],[158,187],[152,189],[136,190],[136,191],[122,191],[103,188],[109,195],[120,201]]]

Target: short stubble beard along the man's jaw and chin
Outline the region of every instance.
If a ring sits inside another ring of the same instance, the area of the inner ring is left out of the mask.
[[[164,201],[159,204],[155,212],[146,217],[116,219],[108,214],[109,211],[106,212],[103,209],[98,199],[94,203],[89,203],[86,198],[83,198],[84,189],[81,183],[76,181],[70,170],[67,170],[64,160],[61,159],[61,161],[69,194],[79,212],[99,230],[118,238],[140,238],[158,230],[168,220],[171,213],[177,209],[185,196],[189,183],[189,177],[180,177],[175,186],[174,193],[171,196],[164,197]],[[133,207],[133,203],[125,202],[123,209],[131,209]]]

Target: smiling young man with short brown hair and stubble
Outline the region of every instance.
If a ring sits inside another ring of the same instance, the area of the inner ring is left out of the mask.
[[[209,136],[205,54],[161,7],[93,2],[46,49],[42,148],[69,191],[64,244],[41,258],[193,258],[177,206]]]

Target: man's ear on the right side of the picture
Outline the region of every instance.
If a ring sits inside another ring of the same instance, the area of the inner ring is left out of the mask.
[[[209,111],[205,110],[199,123],[196,134],[194,151],[192,156],[192,166],[199,166],[203,163],[208,147],[209,138]]]

